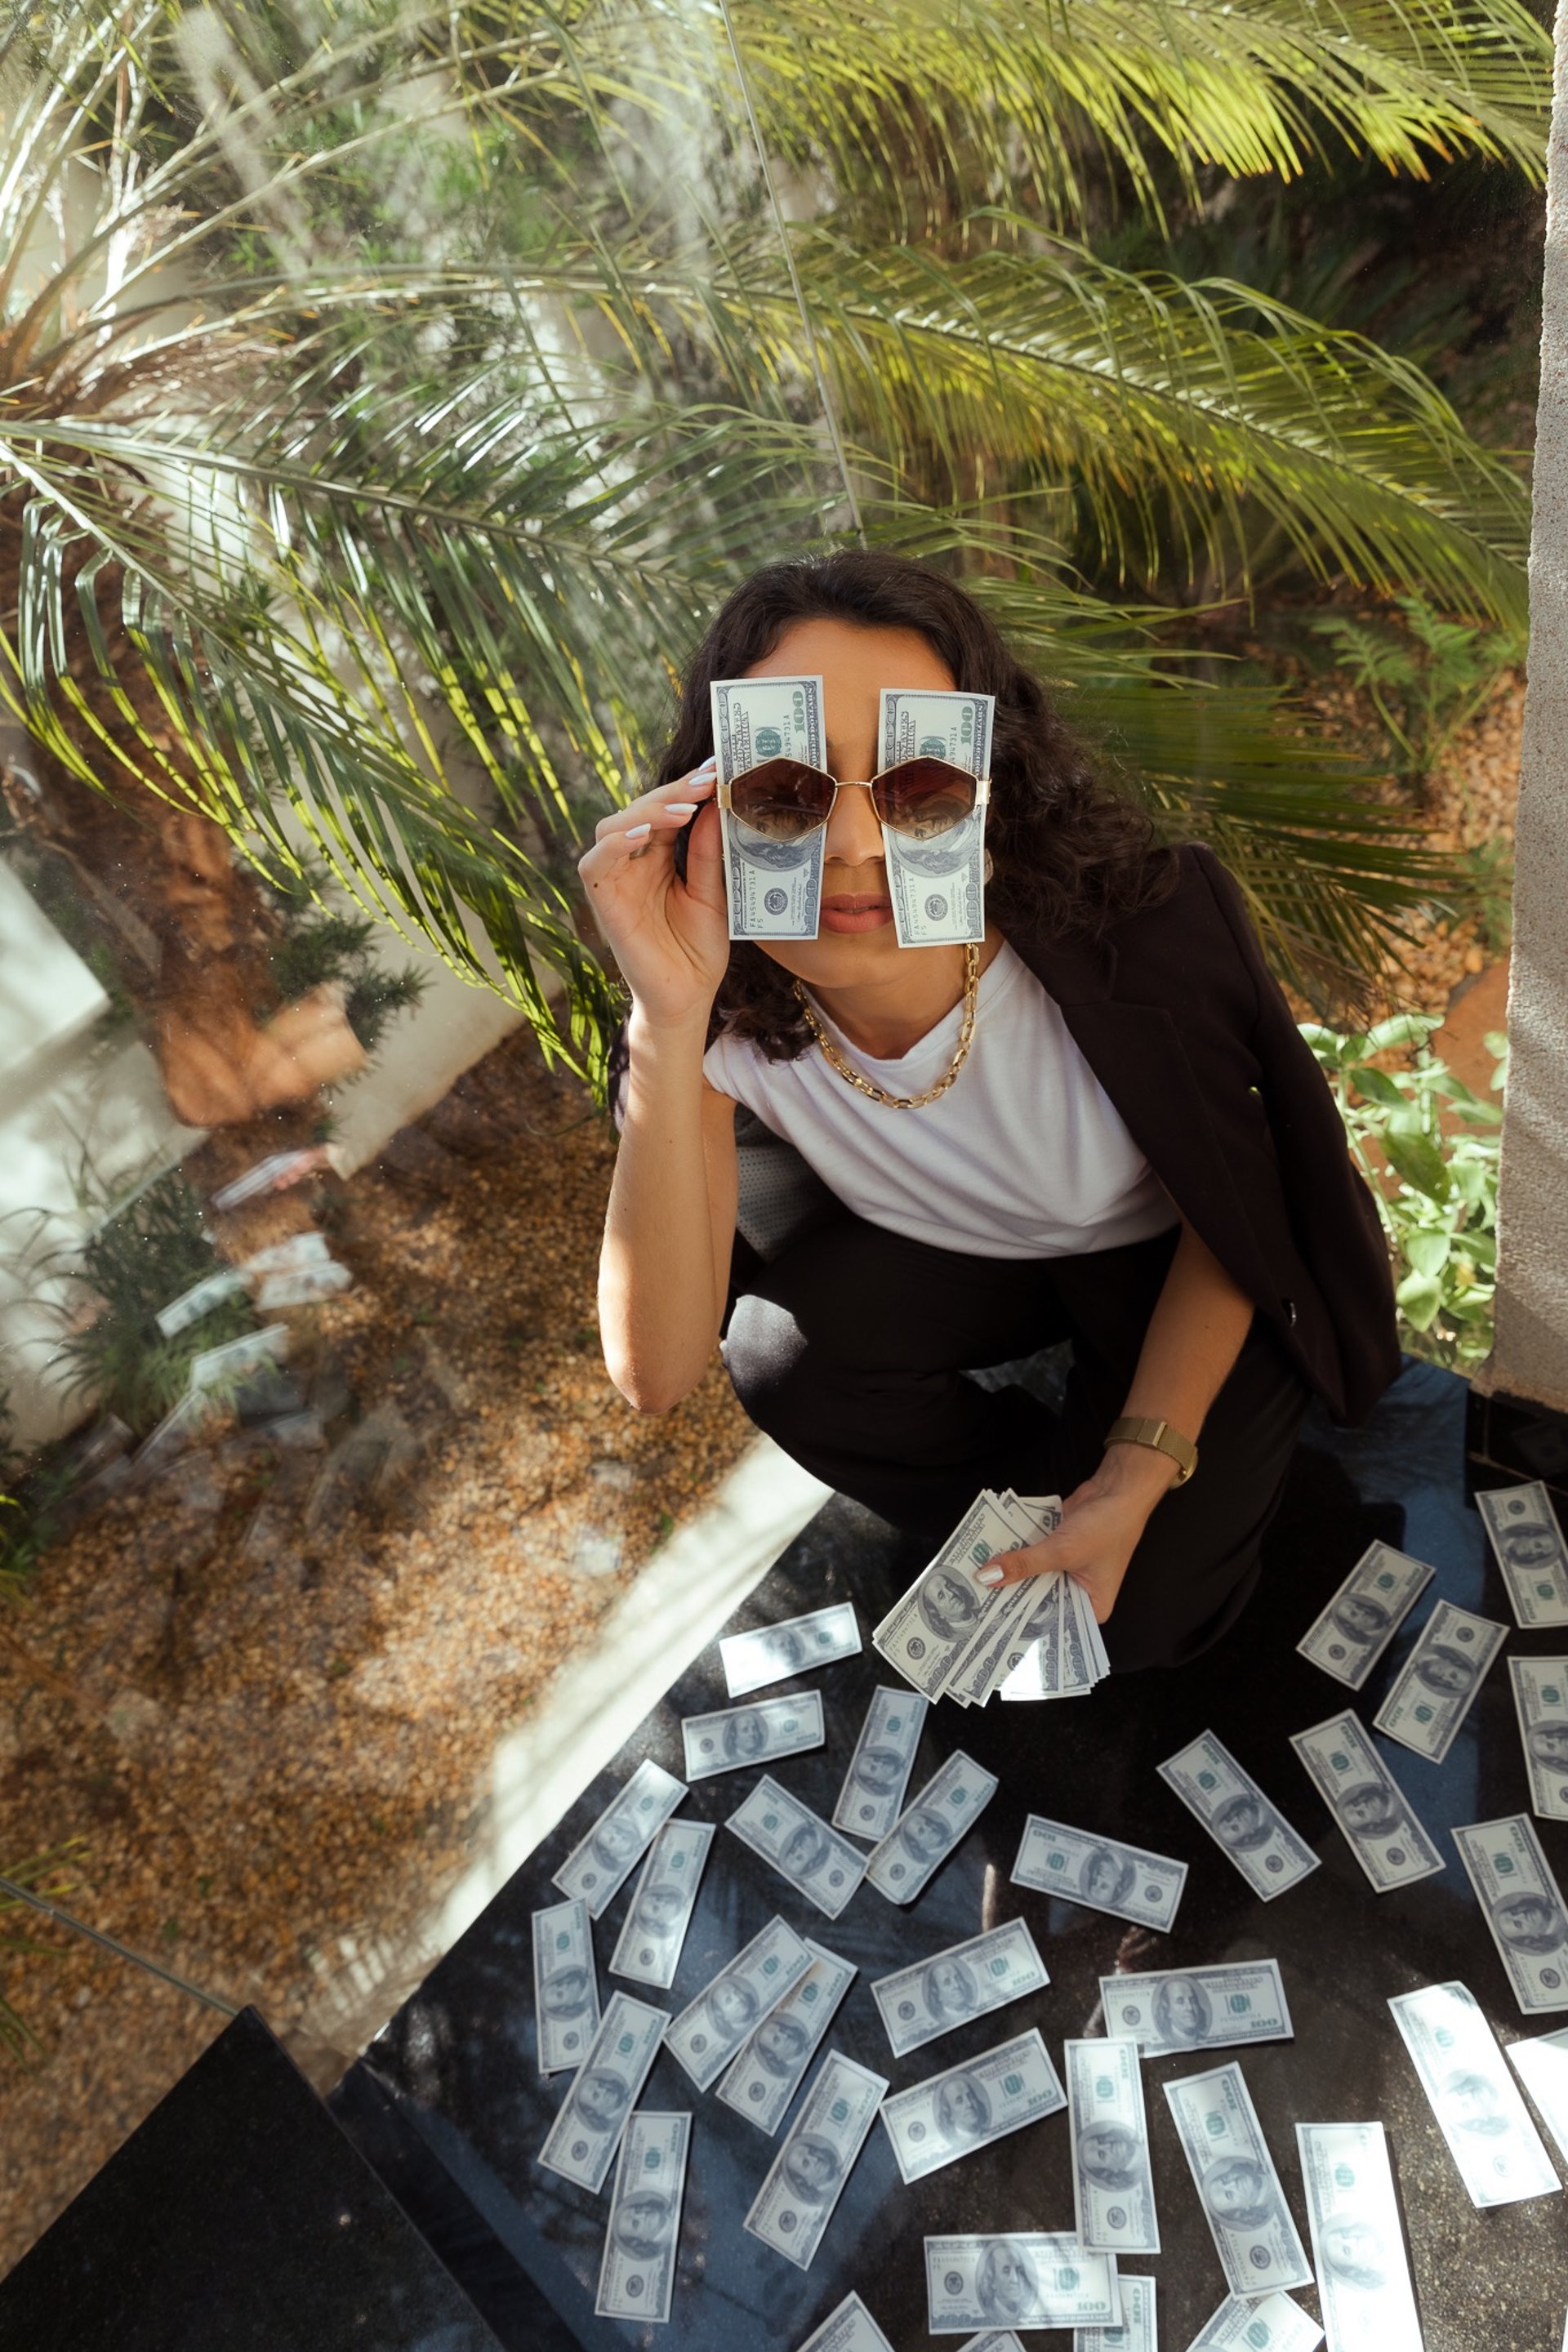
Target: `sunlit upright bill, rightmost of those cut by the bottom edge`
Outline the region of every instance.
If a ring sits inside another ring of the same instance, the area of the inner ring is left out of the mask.
[[[1382,2124],[1298,2124],[1328,2352],[1422,2352]]]

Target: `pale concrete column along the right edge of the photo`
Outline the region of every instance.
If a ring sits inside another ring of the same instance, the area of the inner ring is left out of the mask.
[[[1497,1341],[1476,1388],[1568,1411],[1568,0],[1556,9],[1528,677]]]

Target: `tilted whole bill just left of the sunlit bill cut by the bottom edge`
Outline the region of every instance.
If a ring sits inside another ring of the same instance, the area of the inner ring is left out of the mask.
[[[1168,2082],[1166,2100],[1232,2296],[1312,2286],[1312,2265],[1234,2058],[1208,2074]]]

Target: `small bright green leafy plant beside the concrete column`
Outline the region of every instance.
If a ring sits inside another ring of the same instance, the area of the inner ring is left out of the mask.
[[[1483,1101],[1432,1054],[1436,1014],[1399,1014],[1363,1033],[1302,1021],[1345,1120],[1394,1258],[1394,1301],[1410,1355],[1455,1371],[1493,1345],[1497,1160],[1502,1105]],[[1373,1056],[1415,1047],[1408,1070]],[[1490,1035],[1493,1094],[1507,1080],[1507,1037]]]

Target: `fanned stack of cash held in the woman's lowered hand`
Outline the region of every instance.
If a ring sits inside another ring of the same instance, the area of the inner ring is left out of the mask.
[[[1060,1526],[1053,1494],[983,1489],[872,1642],[924,1698],[1081,1698],[1110,1672],[1088,1595],[1060,1571],[983,1585],[978,1571]]]

